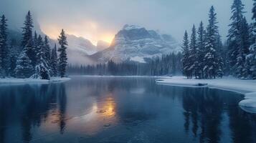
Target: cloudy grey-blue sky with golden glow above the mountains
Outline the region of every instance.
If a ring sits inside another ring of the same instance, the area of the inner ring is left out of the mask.
[[[32,11],[42,31],[57,39],[61,29],[82,36],[93,44],[111,42],[125,24],[171,34],[181,42],[193,24],[207,24],[210,6],[217,11],[219,31],[226,39],[233,0],[0,0],[0,14],[9,26],[20,29],[27,11]],[[252,0],[242,0],[245,16],[251,21]]]

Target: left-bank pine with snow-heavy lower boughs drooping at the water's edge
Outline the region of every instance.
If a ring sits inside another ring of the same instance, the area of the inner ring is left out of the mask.
[[[34,79],[50,79],[49,65],[45,59],[44,54],[44,41],[42,41],[42,36],[39,35],[37,46],[37,65],[35,66],[35,73],[32,75]]]

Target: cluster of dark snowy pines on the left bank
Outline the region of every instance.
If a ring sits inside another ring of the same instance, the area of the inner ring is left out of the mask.
[[[50,79],[65,77],[67,67],[67,37],[62,29],[58,38],[59,47],[49,45],[44,38],[34,31],[30,11],[27,13],[22,27],[20,46],[14,47],[8,39],[7,19],[4,15],[0,21],[0,76],[16,78]],[[57,54],[57,51],[59,54]]]

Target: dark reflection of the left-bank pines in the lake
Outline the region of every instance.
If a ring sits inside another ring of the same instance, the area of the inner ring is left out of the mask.
[[[5,142],[5,130],[11,124],[21,124],[22,139],[30,142],[32,128],[39,127],[49,116],[49,110],[60,108],[60,130],[65,129],[66,93],[64,84],[32,84],[0,88],[0,137]],[[15,126],[15,125],[14,125]],[[19,128],[18,128],[19,129]],[[17,133],[19,131],[16,131]]]

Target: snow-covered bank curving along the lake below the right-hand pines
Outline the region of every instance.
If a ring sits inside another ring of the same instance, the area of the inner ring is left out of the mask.
[[[245,94],[245,99],[239,104],[247,112],[256,113],[256,80],[241,80],[231,77],[223,79],[186,79],[186,77],[171,77],[156,79],[157,84],[181,87],[209,87],[229,90]]]

